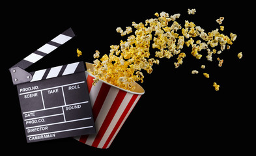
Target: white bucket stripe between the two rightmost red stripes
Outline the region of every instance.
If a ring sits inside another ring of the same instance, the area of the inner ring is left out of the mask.
[[[107,138],[113,131],[113,128],[115,127],[115,125],[119,121],[119,118],[121,117],[122,113],[124,112],[124,109],[126,108],[128,103],[132,99],[132,96],[133,96],[133,94],[127,93],[126,96],[124,97],[124,99],[122,100],[122,103],[121,103],[119,109],[117,109],[117,112],[115,112],[115,116],[113,117],[111,123],[107,127],[107,131],[105,132],[104,136],[102,137],[102,140],[100,140],[100,144],[98,144],[98,148],[103,148]]]

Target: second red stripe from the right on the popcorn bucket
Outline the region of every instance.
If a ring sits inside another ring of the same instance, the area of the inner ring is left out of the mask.
[[[121,105],[122,100],[124,99],[125,96],[126,96],[126,92],[119,90],[115,100],[113,101],[111,108],[109,109],[109,112],[107,113],[107,116],[104,122],[102,123],[102,126],[100,127],[100,130],[98,131],[96,138],[94,139],[94,142],[92,143],[92,146],[97,147],[98,144],[100,144],[100,140],[104,136],[107,130],[107,127],[111,123],[113,117],[115,116],[115,113],[117,112],[117,109],[119,109],[119,106]]]

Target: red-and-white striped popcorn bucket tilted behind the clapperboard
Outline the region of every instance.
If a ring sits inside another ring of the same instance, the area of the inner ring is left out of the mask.
[[[93,71],[92,64],[86,63],[86,66]],[[102,80],[92,86],[95,76],[89,72],[85,74],[96,134],[76,136],[75,139],[96,148],[109,148],[137,101],[144,94],[144,89],[134,83],[135,90],[131,92]]]

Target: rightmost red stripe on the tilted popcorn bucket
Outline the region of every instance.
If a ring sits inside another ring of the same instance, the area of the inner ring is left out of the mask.
[[[132,99],[130,99],[130,102],[128,103],[128,105],[126,106],[126,108],[124,109],[124,112],[122,113],[122,115],[120,116],[117,124],[115,125],[115,127],[113,128],[113,131],[111,131],[111,134],[109,135],[109,137],[107,138],[104,146],[102,148],[107,148],[107,145],[109,144],[109,142],[111,141],[111,139],[113,138],[113,136],[115,135],[117,129],[119,128],[119,126],[122,123],[122,120],[124,120],[126,114],[129,112],[129,110],[131,109],[132,105],[134,104],[135,99],[137,99],[136,94],[134,94],[134,96],[132,96]]]

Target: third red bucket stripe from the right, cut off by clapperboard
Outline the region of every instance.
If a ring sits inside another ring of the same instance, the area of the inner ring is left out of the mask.
[[[94,105],[92,107],[92,114],[93,114],[94,122],[96,121],[96,118],[98,117],[100,109],[102,109],[102,105],[107,97],[110,87],[111,86],[107,85],[106,83],[102,83],[100,91],[98,92],[98,96],[97,96],[97,98],[94,102]]]

